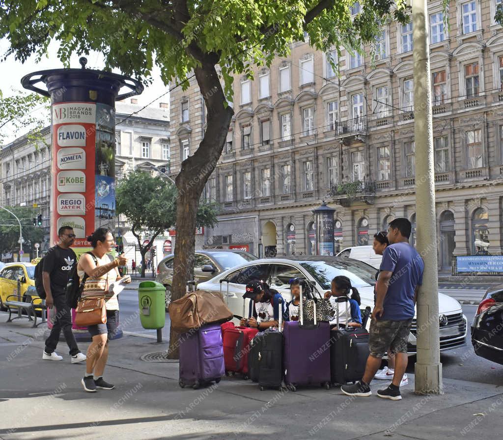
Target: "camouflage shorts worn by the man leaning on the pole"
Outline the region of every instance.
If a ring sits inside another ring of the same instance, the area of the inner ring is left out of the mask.
[[[389,350],[391,353],[407,353],[407,341],[412,319],[405,321],[387,321],[372,319],[370,322],[370,355],[382,358]]]

